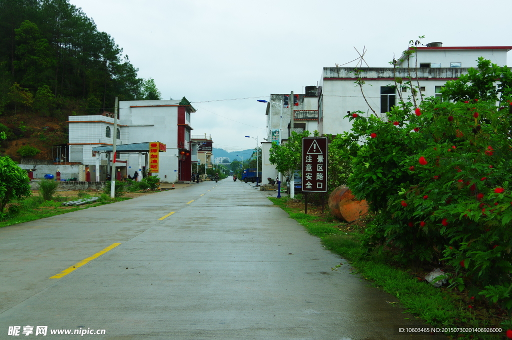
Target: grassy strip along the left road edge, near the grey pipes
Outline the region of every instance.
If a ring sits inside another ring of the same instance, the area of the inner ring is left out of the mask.
[[[80,198],[88,198],[91,197],[89,194],[81,195]],[[4,226],[30,222],[40,218],[51,217],[60,214],[66,214],[77,210],[89,209],[97,206],[102,206],[109,203],[119,202],[122,200],[130,199],[127,197],[116,197],[115,199],[111,199],[107,195],[101,195],[99,201],[94,203],[89,203],[87,205],[82,205],[78,207],[70,207],[66,209],[62,209],[62,202],[64,201],[72,201],[77,200],[77,197],[62,197],[56,196],[55,200],[43,201],[41,197],[27,197],[23,200],[15,202],[16,206],[19,208],[17,213],[12,213],[11,217],[0,221],[0,228]]]

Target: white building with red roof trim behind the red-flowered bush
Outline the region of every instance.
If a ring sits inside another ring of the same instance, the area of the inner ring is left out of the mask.
[[[412,48],[410,48],[411,50]],[[448,80],[458,79],[467,73],[469,67],[477,67],[478,57],[482,56],[500,66],[506,64],[506,53],[512,47],[442,47],[440,42],[418,47],[411,54],[409,66],[402,55],[397,68],[393,67],[358,67],[361,72],[356,75],[354,67],[324,67],[319,86],[318,131],[321,135],[337,134],[349,131],[351,122],[344,116],[351,111],[364,111],[368,115],[380,115],[398,103],[400,91],[405,101],[411,96],[408,86],[395,88],[395,78],[407,81],[412,78],[413,87],[419,88],[423,98],[439,97],[440,89]],[[415,68],[416,58],[418,68]],[[417,72],[417,73],[416,73]],[[417,77],[417,78],[416,78]],[[365,83],[361,88],[355,84],[357,78]],[[416,96],[421,101],[420,94]],[[411,100],[412,102],[412,100]],[[373,111],[370,109],[370,107]]]

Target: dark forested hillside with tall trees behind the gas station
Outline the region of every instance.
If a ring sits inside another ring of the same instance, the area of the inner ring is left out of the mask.
[[[112,111],[116,96],[160,99],[153,79],[137,71],[68,0],[0,0],[0,131],[9,140],[42,133],[39,146],[66,143],[62,122],[70,115]],[[11,155],[11,146],[4,142],[1,151]]]

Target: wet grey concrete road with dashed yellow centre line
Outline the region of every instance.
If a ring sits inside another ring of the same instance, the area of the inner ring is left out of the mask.
[[[0,339],[444,338],[395,333],[424,325],[340,262],[230,178],[8,226]],[[51,334],[76,329],[104,334]]]

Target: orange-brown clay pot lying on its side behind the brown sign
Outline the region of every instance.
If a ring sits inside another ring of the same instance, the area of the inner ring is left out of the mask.
[[[337,218],[352,222],[368,213],[368,203],[356,200],[349,187],[340,186],[329,195],[329,209]]]

